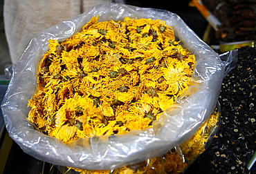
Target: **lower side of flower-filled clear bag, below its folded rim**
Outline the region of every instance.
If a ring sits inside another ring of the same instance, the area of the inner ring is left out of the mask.
[[[221,106],[219,101],[215,110],[187,142],[174,146],[167,153],[129,166],[122,166],[113,170],[80,170],[79,168],[67,168],[55,166],[60,173],[88,173],[88,174],[117,174],[117,173],[184,173],[186,169],[210,146],[214,136],[219,131],[221,119]],[[53,168],[53,167],[52,167]]]

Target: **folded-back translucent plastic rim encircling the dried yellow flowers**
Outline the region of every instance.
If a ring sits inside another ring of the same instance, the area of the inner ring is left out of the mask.
[[[96,15],[99,15],[99,21],[120,21],[125,17],[166,21],[167,25],[174,27],[176,38],[181,40],[181,44],[196,55],[192,77],[194,82],[171,108],[165,110],[158,121],[154,121],[152,128],[131,131],[125,135],[76,139],[64,144],[59,139],[39,133],[26,119],[30,110],[28,99],[35,93],[37,67],[42,55],[48,50],[48,39],[62,41],[80,32],[82,26]],[[60,166],[113,169],[163,155],[170,148],[188,140],[214,110],[223,72],[224,65],[219,55],[176,14],[110,3],[95,6],[33,38],[15,68],[1,108],[10,137],[29,155]]]

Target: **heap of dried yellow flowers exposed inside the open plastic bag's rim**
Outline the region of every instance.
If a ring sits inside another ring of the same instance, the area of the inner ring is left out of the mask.
[[[195,64],[161,20],[93,17],[48,47],[28,119],[62,142],[150,128],[188,88]]]

